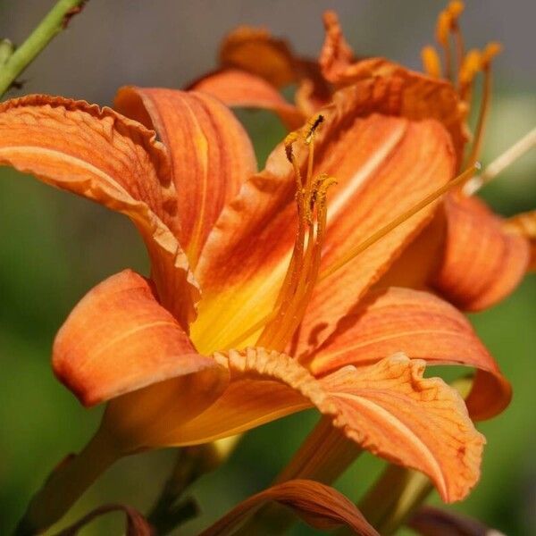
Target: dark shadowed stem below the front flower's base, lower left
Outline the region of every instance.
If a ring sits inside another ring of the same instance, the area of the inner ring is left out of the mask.
[[[56,523],[98,476],[121,456],[121,450],[109,432],[99,429],[80,454],[65,460],[50,474],[31,499],[14,535],[37,534]]]

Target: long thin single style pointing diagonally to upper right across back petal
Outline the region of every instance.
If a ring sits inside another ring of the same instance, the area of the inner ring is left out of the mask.
[[[322,281],[326,279],[328,276],[330,276],[333,272],[337,272],[339,268],[342,268],[345,264],[348,264],[357,255],[363,253],[365,249],[368,249],[369,247],[373,246],[373,244],[375,244],[378,240],[382,239],[391,230],[396,229],[398,225],[406,222],[406,220],[411,218],[414,214],[417,214],[419,211],[423,210],[424,207],[433,203],[433,201],[441,197],[444,193],[448,192],[449,189],[454,188],[458,184],[463,184],[465,180],[469,180],[473,176],[474,172],[480,169],[481,169],[480,163],[474,163],[471,167],[465,170],[465,172],[458,175],[456,179],[448,181],[447,184],[445,184],[441,188],[438,188],[435,192],[431,193],[429,196],[424,197],[419,203],[412,206],[405,213],[400,214],[397,218],[389,222],[387,225],[383,226],[380,230],[377,230],[368,239],[365,239],[356,247],[350,248],[350,250],[345,255],[342,255],[338,261],[335,261],[333,264],[331,264],[331,266],[329,266],[323,272],[321,272],[318,278],[318,281]]]

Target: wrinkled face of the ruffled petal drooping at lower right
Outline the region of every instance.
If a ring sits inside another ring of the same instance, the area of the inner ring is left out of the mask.
[[[457,391],[423,371],[423,361],[398,355],[321,382],[337,406],[335,425],[350,439],[427,474],[446,502],[460,500],[479,479],[485,440]]]

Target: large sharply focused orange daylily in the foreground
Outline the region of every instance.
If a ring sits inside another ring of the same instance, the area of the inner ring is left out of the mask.
[[[34,523],[54,521],[96,476],[68,497],[65,475],[311,406],[374,454],[428,474],[446,501],[465,497],[484,440],[424,364],[481,371],[474,418],[502,410],[509,385],[453,306],[412,289],[367,294],[434,205],[330,271],[453,176],[447,130],[393,105],[410,90],[396,77],[343,88],[259,173],[239,122],[203,93],[123,88],[116,107],[134,120],[60,97],[0,105],[0,163],[128,215],[151,258],[150,279],[127,270],[90,290],[54,341],[60,380],[85,405],[108,406],[88,448],[46,483],[56,502],[32,503]]]

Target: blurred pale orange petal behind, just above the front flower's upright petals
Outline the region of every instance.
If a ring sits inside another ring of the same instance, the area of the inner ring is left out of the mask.
[[[197,80],[192,86],[237,108],[259,108],[276,113],[289,130],[305,122],[304,114],[290,105],[281,93],[263,78],[238,69],[216,71]]]

